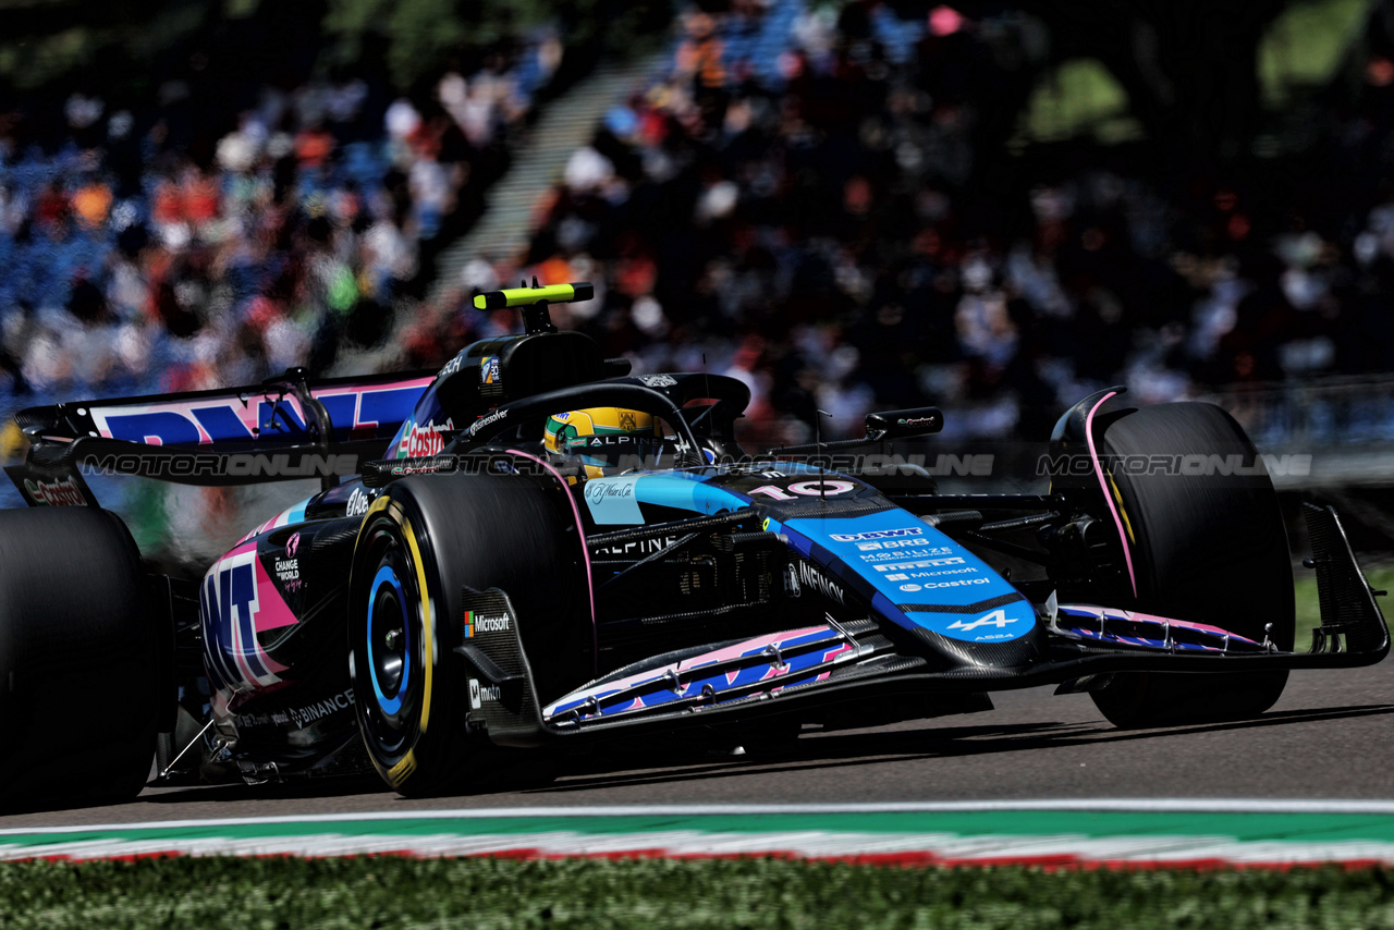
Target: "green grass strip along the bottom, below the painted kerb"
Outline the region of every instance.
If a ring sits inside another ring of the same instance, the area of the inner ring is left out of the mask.
[[[0,866],[10,927],[1391,927],[1394,871],[898,869],[771,859]]]

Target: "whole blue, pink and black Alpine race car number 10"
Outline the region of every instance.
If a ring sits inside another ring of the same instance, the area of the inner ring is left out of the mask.
[[[434,795],[587,743],[753,745],[1039,685],[1119,726],[1241,718],[1291,669],[1388,651],[1337,514],[1310,505],[1322,625],[1294,651],[1278,501],[1218,407],[1100,392],[1055,427],[1047,494],[940,494],[892,446],[938,432],[937,409],[747,455],[743,382],[634,376],[556,330],[548,304],[591,293],[478,296],[526,333],[438,374],[21,411],[0,796],[130,798],[152,754],[169,784],[376,770]],[[180,579],[142,563],[92,473],[322,488]]]

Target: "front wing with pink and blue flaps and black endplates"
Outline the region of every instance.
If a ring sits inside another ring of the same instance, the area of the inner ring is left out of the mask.
[[[1306,653],[1278,650],[1223,629],[1097,605],[1037,605],[1047,654],[1025,665],[942,668],[905,654],[875,618],[822,623],[714,643],[654,657],[541,704],[517,623],[480,633],[459,651],[470,662],[471,724],[495,742],[535,745],[553,738],[623,729],[676,729],[788,714],[861,697],[955,694],[1040,685],[1089,690],[1117,672],[1224,673],[1257,669],[1349,668],[1388,653],[1388,627],[1330,508],[1306,505],[1322,625]],[[475,604],[478,601],[478,604]],[[512,612],[498,590],[466,593],[466,609]],[[795,706],[799,707],[795,707]]]

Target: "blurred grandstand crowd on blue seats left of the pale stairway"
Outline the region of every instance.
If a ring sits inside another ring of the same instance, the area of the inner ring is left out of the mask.
[[[194,54],[146,109],[0,114],[6,407],[354,369],[560,54],[545,31],[489,49],[428,99],[350,73],[230,93]]]

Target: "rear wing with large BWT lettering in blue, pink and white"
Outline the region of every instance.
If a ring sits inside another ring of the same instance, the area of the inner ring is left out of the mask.
[[[333,487],[381,459],[434,371],[311,381],[290,369],[265,383],[29,407],[29,438],[6,473],[31,506],[86,503],[92,474],[233,487],[319,478]]]

